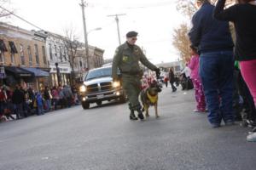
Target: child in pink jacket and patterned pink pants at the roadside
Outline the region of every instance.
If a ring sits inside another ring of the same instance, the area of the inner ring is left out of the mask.
[[[206,111],[206,100],[203,91],[201,78],[199,77],[199,55],[197,54],[196,48],[191,48],[191,59],[189,63],[189,68],[191,70],[190,78],[194,84],[195,88],[195,101],[196,109],[194,112],[205,112]]]

